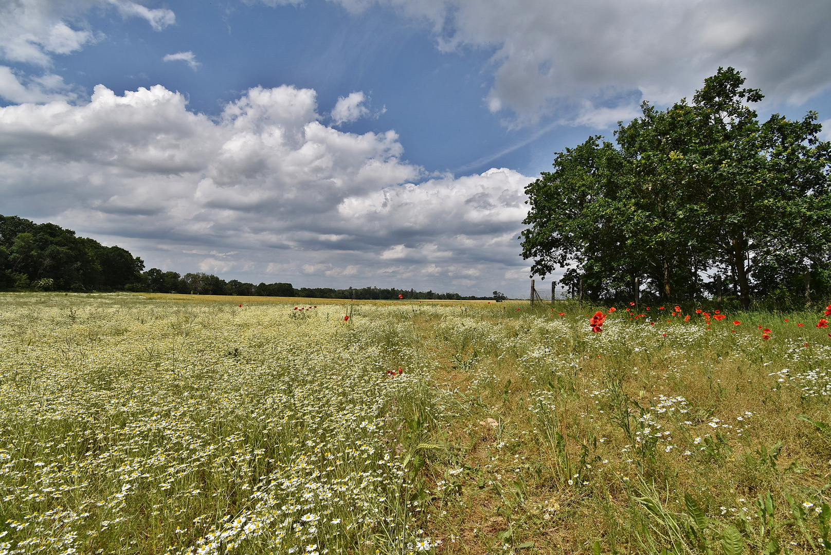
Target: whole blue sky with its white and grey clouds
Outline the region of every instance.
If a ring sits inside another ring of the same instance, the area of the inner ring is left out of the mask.
[[[719,66],[831,139],[827,0],[0,0],[0,214],[165,271],[527,296],[524,187]]]

